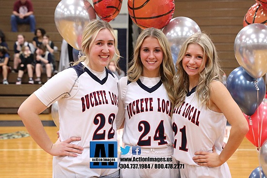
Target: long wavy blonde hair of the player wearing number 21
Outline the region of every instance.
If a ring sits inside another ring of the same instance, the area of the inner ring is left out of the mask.
[[[180,106],[186,97],[186,94],[189,92],[189,78],[187,73],[183,68],[183,58],[186,53],[187,47],[190,44],[199,44],[203,49],[203,58],[207,57],[206,64],[203,71],[200,72],[199,84],[196,88],[196,96],[200,101],[200,104],[209,106],[210,99],[210,83],[214,80],[222,81],[223,71],[219,65],[219,59],[216,51],[216,47],[214,46],[210,37],[205,33],[195,33],[191,35],[186,41],[183,43],[181,50],[178,55],[178,59],[176,62],[177,72],[174,78],[174,92],[176,94],[176,106]],[[203,60],[204,61],[204,60]]]

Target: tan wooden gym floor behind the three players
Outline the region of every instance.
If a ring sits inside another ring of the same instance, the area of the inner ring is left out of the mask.
[[[3,126],[3,121],[19,121],[17,114],[0,114],[0,134],[26,131],[23,126]],[[41,114],[42,121],[52,121],[51,114]],[[45,127],[51,140],[57,140],[57,127]],[[246,138],[227,161],[233,178],[248,178],[259,166],[258,152]],[[31,137],[0,139],[0,178],[52,178],[52,156]]]

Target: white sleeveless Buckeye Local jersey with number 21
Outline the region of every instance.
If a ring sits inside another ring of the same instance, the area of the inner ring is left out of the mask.
[[[220,154],[226,128],[223,113],[214,112],[198,103],[195,93],[193,89],[187,94],[184,103],[175,108],[172,115],[175,135],[173,156],[189,165],[198,165],[192,160],[196,151],[212,152],[215,146]]]

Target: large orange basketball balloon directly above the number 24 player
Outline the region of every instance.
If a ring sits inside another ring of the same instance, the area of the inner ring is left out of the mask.
[[[162,29],[174,13],[174,0],[128,0],[128,11],[141,29]]]

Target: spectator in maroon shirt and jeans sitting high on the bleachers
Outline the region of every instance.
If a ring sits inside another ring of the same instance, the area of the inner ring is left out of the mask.
[[[17,32],[17,24],[30,24],[31,32],[35,31],[35,17],[31,0],[17,0],[11,15],[11,30]]]

